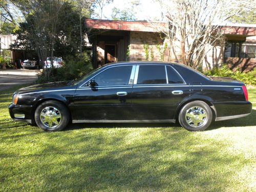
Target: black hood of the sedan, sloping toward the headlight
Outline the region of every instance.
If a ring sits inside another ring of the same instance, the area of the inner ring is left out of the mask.
[[[44,84],[36,84],[34,86],[21,88],[15,91],[14,94],[37,92],[37,91],[49,91],[49,90],[55,90],[59,88],[70,89],[70,86],[68,86],[68,82],[69,81],[59,81],[59,82],[51,82],[51,83],[44,83]]]

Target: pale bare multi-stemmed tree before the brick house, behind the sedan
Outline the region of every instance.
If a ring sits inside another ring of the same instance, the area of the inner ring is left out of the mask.
[[[211,46],[221,44],[221,25],[249,9],[252,0],[158,0],[165,8],[170,55],[185,65],[199,67]],[[239,5],[238,5],[239,4]]]

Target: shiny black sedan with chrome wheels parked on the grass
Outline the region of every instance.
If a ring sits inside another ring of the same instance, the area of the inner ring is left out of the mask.
[[[44,131],[62,130],[70,121],[179,121],[202,131],[211,121],[244,117],[251,109],[243,82],[165,62],[111,63],[78,80],[19,89],[9,105],[15,121]]]

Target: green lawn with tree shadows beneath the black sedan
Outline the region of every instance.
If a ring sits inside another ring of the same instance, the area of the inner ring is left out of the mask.
[[[116,123],[52,133],[10,119],[13,90],[0,94],[0,191],[256,190],[256,89],[250,116],[204,132]]]

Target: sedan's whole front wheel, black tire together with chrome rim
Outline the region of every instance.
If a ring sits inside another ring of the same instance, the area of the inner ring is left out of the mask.
[[[54,122],[52,122],[52,117],[55,118],[56,121],[54,120]],[[46,122],[42,122],[44,120],[46,120]],[[64,104],[58,101],[45,101],[39,104],[35,110],[35,122],[37,126],[44,131],[60,131],[68,125],[69,120],[69,110]]]

